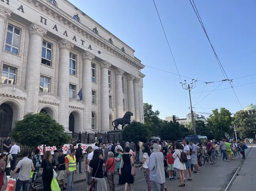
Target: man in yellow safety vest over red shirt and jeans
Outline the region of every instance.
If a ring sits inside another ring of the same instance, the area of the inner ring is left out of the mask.
[[[65,157],[65,167],[67,172],[68,183],[66,185],[67,191],[73,190],[73,184],[76,174],[76,149],[71,149],[70,154]]]

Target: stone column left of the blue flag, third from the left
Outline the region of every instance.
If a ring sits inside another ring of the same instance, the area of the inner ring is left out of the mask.
[[[69,131],[69,51],[74,47],[74,44],[66,39],[61,39],[58,44],[60,47],[58,96],[61,98],[58,122],[64,126],[65,131]]]

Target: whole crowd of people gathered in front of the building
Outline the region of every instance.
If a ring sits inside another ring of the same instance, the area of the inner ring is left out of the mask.
[[[201,156],[205,155],[210,159],[210,165],[213,165],[212,156],[222,152],[223,161],[232,161],[238,157],[245,158],[245,149],[248,147],[245,143],[237,143],[230,139],[222,139],[219,144],[215,140],[208,140],[207,143],[194,143],[192,140],[187,142],[171,142],[154,140],[142,144],[142,166],[148,191],[167,191],[165,177],[169,176],[169,181],[174,181],[174,173],[178,173],[180,180],[179,187],[185,187],[185,181],[192,181],[192,174],[199,174]],[[107,177],[110,191],[115,191],[116,186],[124,185],[124,190],[128,187],[133,191],[132,184],[135,181],[133,166],[135,161],[139,161],[140,145],[133,142],[126,142],[124,148],[119,142],[112,141],[102,143],[102,139],[96,141],[95,145],[88,146],[85,154],[82,145],[74,149],[70,145],[66,156],[57,147],[52,155],[50,151],[40,155],[38,148],[35,148],[31,158],[28,158],[28,152],[23,152],[23,159],[17,166],[12,165],[20,152],[19,146],[11,145],[9,137],[4,141],[4,148],[0,154],[0,190],[4,180],[4,172],[7,176],[13,177],[19,171],[16,181],[15,191],[27,191],[30,180],[30,172],[33,171],[32,183],[36,180],[38,172],[42,171],[42,182],[44,191],[51,191],[51,182],[54,177],[54,169],[58,169],[57,181],[62,185],[61,190],[72,191],[74,179],[79,170],[79,174],[86,173],[87,191],[108,191],[105,177]],[[240,155],[241,154],[241,155]],[[84,172],[82,172],[82,160]],[[207,161],[208,162],[208,161]],[[79,168],[78,168],[79,167]],[[176,170],[176,171],[175,171]],[[64,181],[64,175],[67,177],[67,184]],[[118,174],[118,182],[114,182],[114,176]],[[188,178],[187,178],[188,176]]]

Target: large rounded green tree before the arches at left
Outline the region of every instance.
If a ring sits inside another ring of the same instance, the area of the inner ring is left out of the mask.
[[[70,136],[47,113],[28,113],[23,120],[15,121],[11,131],[13,139],[21,145],[35,147],[39,145],[59,146],[70,141]]]

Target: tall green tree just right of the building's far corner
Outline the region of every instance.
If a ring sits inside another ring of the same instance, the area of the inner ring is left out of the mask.
[[[152,105],[148,103],[143,104],[144,109],[144,123],[147,125],[148,129],[152,132],[153,136],[159,135],[159,130],[161,129],[162,120],[159,119],[160,112],[158,110],[153,111]]]

